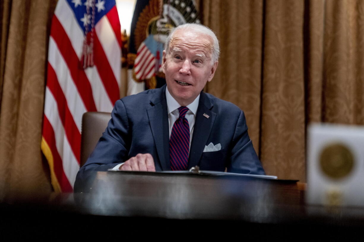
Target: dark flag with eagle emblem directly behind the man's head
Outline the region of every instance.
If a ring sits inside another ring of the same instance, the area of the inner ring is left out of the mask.
[[[184,23],[200,23],[194,0],[137,0],[131,22],[128,64],[146,88],[164,85],[162,55],[168,32]]]

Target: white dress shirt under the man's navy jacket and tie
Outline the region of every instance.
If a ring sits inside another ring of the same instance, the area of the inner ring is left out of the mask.
[[[188,124],[190,126],[190,148],[191,148],[191,141],[192,141],[192,134],[193,134],[193,128],[195,126],[195,120],[196,120],[196,113],[198,108],[198,101],[200,100],[200,95],[196,97],[196,99],[189,105],[187,105],[187,108],[189,109],[186,113],[186,118],[188,120]],[[166,101],[167,101],[167,109],[168,109],[168,125],[169,125],[169,137],[171,137],[171,132],[173,128],[174,122],[179,117],[179,111],[178,108],[181,106],[178,104],[178,102],[172,97],[172,95],[168,91],[168,87],[166,88]],[[141,152],[143,152],[141,150]],[[119,167],[123,165],[123,163],[120,163],[112,168],[112,170],[119,170]]]

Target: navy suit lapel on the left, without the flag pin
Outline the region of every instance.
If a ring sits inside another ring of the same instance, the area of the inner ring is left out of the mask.
[[[165,97],[166,86],[163,86],[163,88],[159,90],[160,91],[156,92],[151,98],[150,107],[147,109],[147,113],[159,157],[159,164],[161,165],[162,170],[170,170],[168,112]]]

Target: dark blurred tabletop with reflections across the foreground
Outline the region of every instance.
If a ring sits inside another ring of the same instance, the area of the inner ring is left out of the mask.
[[[99,172],[89,192],[2,203],[0,240],[362,240],[363,207],[306,205],[296,181],[232,176]],[[124,234],[123,234],[124,233]]]

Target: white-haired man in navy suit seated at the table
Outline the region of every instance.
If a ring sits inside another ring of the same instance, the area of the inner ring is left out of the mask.
[[[218,65],[215,34],[184,24],[163,51],[166,85],[118,100],[76,183],[90,171],[201,170],[265,174],[248,136],[244,113],[202,92]],[[76,186],[76,184],[75,184]]]

